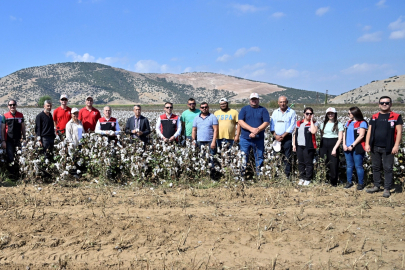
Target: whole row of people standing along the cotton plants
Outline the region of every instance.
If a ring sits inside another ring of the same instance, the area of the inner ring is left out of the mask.
[[[82,109],[67,106],[68,97],[61,95],[61,106],[51,114],[52,102],[44,102],[44,110],[37,115],[35,134],[45,155],[53,151],[56,134],[65,134],[66,140],[78,146],[83,133],[95,132],[109,139],[115,139],[122,132],[118,120],[112,117],[110,106],[100,111],[93,107],[93,98],[86,97],[86,106]],[[270,126],[274,138],[273,148],[282,153],[284,173],[291,174],[291,155],[297,153],[299,181],[298,185],[309,185],[314,172],[314,156],[318,148],[316,134],[320,130],[321,140],[319,154],[327,165],[327,180],[332,186],[337,186],[339,171],[339,149],[343,142],[346,157],[347,183],[345,188],[353,186],[353,171],[357,172],[357,189],[364,189],[363,159],[365,152],[371,152],[373,165],[374,187],[367,192],[380,190],[381,170],[384,170],[384,197],[390,196],[393,183],[394,155],[398,152],[402,137],[402,117],[391,111],[392,100],[383,96],[379,100],[380,112],[374,114],[367,123],[358,107],[348,111],[349,121],[343,126],[337,118],[335,108],[328,108],[320,124],[315,121],[314,111],[310,107],[304,109],[302,120],[297,121],[296,112],[288,106],[288,99],[280,96],[279,108],[274,110],[270,118],[266,108],[260,106],[257,93],[249,97],[249,105],[244,106],[238,113],[229,108],[226,98],[219,100],[220,109],[210,113],[209,104],[202,102],[197,109],[196,101],[190,98],[188,109],[181,115],[173,113],[173,103],[164,104],[164,113],[156,121],[157,136],[167,143],[177,143],[179,136],[184,135],[198,147],[208,146],[210,154],[224,145],[232,146],[239,143],[239,148],[245,153],[244,168],[250,152],[255,159],[256,173],[264,161],[265,130]],[[14,161],[16,147],[26,139],[24,116],[17,111],[17,102],[9,100],[9,111],[1,119],[2,148],[6,149],[9,163]],[[134,116],[130,117],[124,129],[134,140],[148,143],[151,127],[149,120],[142,116],[140,105],[133,107]],[[11,166],[12,167],[12,166]],[[11,173],[16,173],[12,171]],[[242,172],[243,173],[243,172]]]

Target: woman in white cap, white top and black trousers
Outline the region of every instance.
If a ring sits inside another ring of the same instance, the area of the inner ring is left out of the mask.
[[[326,179],[334,187],[337,186],[339,177],[339,146],[343,140],[343,124],[337,119],[337,111],[333,107],[326,110],[325,119],[320,123],[321,144],[320,157],[325,162]]]

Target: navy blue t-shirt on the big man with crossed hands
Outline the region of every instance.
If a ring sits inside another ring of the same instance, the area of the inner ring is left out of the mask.
[[[247,105],[240,110],[239,120],[245,121],[245,123],[251,127],[258,128],[264,122],[270,123],[270,115],[267,109],[262,106],[253,108]],[[241,130],[241,137],[250,140],[250,131],[244,128]],[[259,132],[255,139],[264,139],[264,130]]]

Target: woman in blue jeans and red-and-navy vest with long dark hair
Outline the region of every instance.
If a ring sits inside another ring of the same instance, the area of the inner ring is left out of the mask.
[[[357,190],[364,189],[363,159],[365,154],[365,136],[368,128],[367,122],[358,107],[351,107],[348,112],[349,121],[345,124],[343,134],[343,150],[346,157],[347,183],[344,188],[353,186],[353,169],[357,172]]]

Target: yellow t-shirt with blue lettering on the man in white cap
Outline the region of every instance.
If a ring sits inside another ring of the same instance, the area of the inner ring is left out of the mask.
[[[218,138],[233,140],[235,138],[236,124],[238,123],[238,112],[230,109],[227,112],[218,110],[214,113],[218,119]]]

